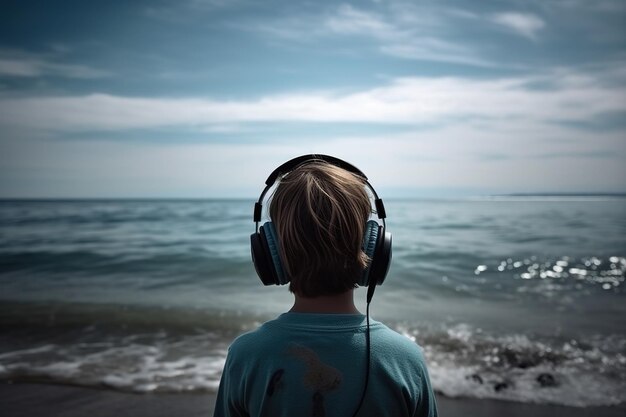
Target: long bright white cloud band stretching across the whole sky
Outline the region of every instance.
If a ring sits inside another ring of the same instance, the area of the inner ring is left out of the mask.
[[[608,73],[621,77],[619,72]],[[616,86],[616,81],[601,79],[599,73],[571,70],[494,80],[407,77],[351,93],[277,94],[237,101],[109,94],[4,98],[0,99],[0,126],[99,131],[166,126],[200,129],[249,122],[435,126],[459,120],[487,125],[584,122],[626,110],[625,84]]]

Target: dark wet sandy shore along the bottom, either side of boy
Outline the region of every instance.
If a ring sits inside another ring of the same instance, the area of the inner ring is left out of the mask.
[[[442,417],[622,417],[626,406],[560,407],[438,397]],[[4,417],[210,417],[212,394],[126,394],[91,388],[0,383]]]

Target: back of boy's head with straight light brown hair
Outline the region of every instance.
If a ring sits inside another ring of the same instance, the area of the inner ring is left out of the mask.
[[[315,161],[285,175],[270,217],[289,290],[317,297],[354,288],[368,262],[362,244],[371,210],[365,181],[342,168]]]

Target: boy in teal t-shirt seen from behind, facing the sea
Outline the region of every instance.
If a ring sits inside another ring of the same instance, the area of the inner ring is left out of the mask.
[[[280,172],[285,166],[288,172]],[[274,283],[289,281],[294,304],[233,342],[214,417],[437,416],[420,348],[382,323],[370,324],[354,305],[354,288],[372,267],[373,252],[364,251],[372,212],[367,178],[322,155],[281,167],[258,209],[282,175],[270,203],[272,231],[266,223],[261,234],[270,235],[275,251]]]

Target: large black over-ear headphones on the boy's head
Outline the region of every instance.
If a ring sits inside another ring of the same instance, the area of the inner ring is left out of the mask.
[[[382,224],[375,220],[369,220],[365,225],[363,235],[363,252],[370,259],[367,268],[359,277],[356,284],[361,287],[370,287],[373,290],[376,285],[380,285],[385,281],[389,265],[391,264],[391,233],[386,231],[385,206],[383,201],[378,198],[378,194],[367,180],[367,177],[355,166],[342,161],[341,159],[319,154],[302,155],[291,159],[278,168],[276,168],[267,180],[265,188],[259,196],[259,200],[254,204],[254,222],[255,232],[250,236],[250,245],[252,249],[252,262],[256,273],[265,285],[284,285],[289,283],[289,277],[285,273],[279,254],[279,240],[276,233],[276,227],[269,221],[259,227],[261,221],[261,212],[263,209],[263,198],[267,191],[274,185],[278,177],[284,176],[301,165],[310,162],[326,162],[336,167],[345,169],[348,172],[360,177],[372,192],[374,196],[374,204],[378,218]],[[368,297],[371,298],[371,297]]]

